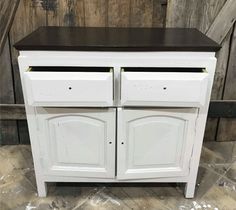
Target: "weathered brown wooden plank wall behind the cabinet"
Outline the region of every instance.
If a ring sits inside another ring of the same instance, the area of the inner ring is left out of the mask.
[[[20,0],[7,34],[7,42],[0,55],[0,104],[24,104],[18,73],[18,52],[13,48],[13,44],[39,26],[196,27],[213,36],[218,25],[222,24],[219,14],[226,15],[224,20],[228,21],[224,24],[224,30],[219,30],[221,33],[213,37],[219,39],[223,47],[217,53],[218,64],[212,99],[235,99],[235,89],[232,88],[236,80],[236,30],[233,30],[233,11],[236,7],[232,6],[234,2],[236,1]],[[225,31],[227,34],[223,34]],[[3,105],[0,109],[4,109],[4,117],[0,118],[0,144],[29,143],[26,121],[23,120],[23,115],[18,113],[23,110],[22,106],[12,105],[6,108]],[[10,110],[18,112],[9,117],[11,120],[6,120],[6,113]],[[206,139],[235,140],[235,126],[236,120],[233,119],[209,119]],[[228,132],[230,134],[227,135]]]

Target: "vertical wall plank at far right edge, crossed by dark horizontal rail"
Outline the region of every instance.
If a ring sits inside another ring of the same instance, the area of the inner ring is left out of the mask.
[[[231,40],[231,49],[229,63],[224,88],[224,100],[236,100],[236,24],[234,25],[233,36]],[[236,119],[221,118],[219,121],[217,141],[235,141],[236,140]]]

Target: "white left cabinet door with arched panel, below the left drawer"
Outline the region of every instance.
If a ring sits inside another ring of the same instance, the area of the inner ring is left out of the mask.
[[[36,110],[44,174],[114,177],[115,109]]]

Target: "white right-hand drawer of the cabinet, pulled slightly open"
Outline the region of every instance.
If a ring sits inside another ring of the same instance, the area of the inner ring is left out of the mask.
[[[133,69],[133,68],[132,68]],[[202,69],[121,71],[121,104],[132,106],[201,106],[208,73]]]

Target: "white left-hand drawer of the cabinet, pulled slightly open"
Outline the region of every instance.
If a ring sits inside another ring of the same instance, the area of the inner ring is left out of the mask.
[[[110,68],[39,69],[24,73],[29,105],[109,106],[113,103],[113,72]]]

